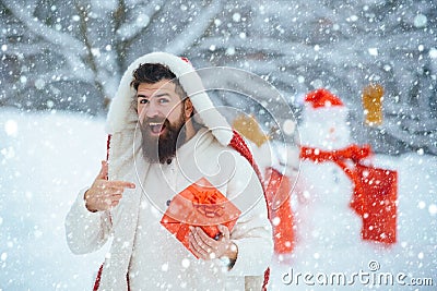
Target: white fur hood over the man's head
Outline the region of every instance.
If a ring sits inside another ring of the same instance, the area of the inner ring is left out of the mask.
[[[214,108],[209,95],[206,94],[202,81],[193,66],[185,58],[179,58],[166,52],[152,52],[144,54],[133,61],[125,72],[117,94],[111,101],[106,131],[110,134],[109,177],[113,179],[121,178],[128,169],[129,161],[140,153],[141,140],[137,131],[138,116],[132,107],[132,99],[135,89],[130,86],[133,71],[141,63],[161,63],[167,65],[169,70],[179,78],[180,85],[189,96],[196,113],[197,120],[203,123],[215,138],[224,146],[228,145],[233,138],[233,131],[226,119]],[[133,156],[132,156],[133,155]]]

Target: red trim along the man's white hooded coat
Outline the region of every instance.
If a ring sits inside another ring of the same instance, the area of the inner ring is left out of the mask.
[[[108,140],[107,140],[107,142],[106,142],[106,160],[109,159],[110,137],[111,137],[111,135],[109,134],[109,135],[108,135]],[[235,150],[237,150],[237,151],[238,151],[243,157],[245,157],[245,158],[249,161],[249,163],[252,166],[255,172],[256,172],[257,175],[258,175],[258,179],[259,179],[260,182],[261,182],[262,190],[263,190],[263,193],[264,193],[265,205],[269,205],[269,204],[268,204],[268,201],[267,201],[267,196],[265,196],[264,184],[262,183],[262,175],[261,175],[261,172],[260,172],[260,170],[259,170],[257,163],[255,162],[253,156],[252,156],[252,154],[250,153],[249,147],[247,146],[247,144],[245,143],[245,141],[243,140],[243,137],[239,135],[239,133],[236,132],[235,130],[233,130],[233,138],[231,140],[229,146],[232,146]],[[268,216],[269,216],[269,219],[270,219],[270,210],[269,210],[269,207],[267,207],[267,209],[268,209]],[[102,271],[103,271],[103,265],[102,265],[101,268],[98,269],[97,278],[96,278],[95,282],[94,282],[94,288],[93,288],[94,291],[97,291],[97,290],[98,290],[98,287],[99,287],[99,284],[101,284]],[[129,276],[126,275],[126,277],[127,277],[127,280],[128,280],[128,291],[129,291],[129,290],[130,290],[130,288],[129,288]],[[267,268],[267,270],[264,271],[264,281],[263,281],[263,283],[262,283],[262,291],[265,291],[265,290],[267,290],[267,286],[268,286],[268,283],[269,283],[269,277],[270,277],[270,268]]]

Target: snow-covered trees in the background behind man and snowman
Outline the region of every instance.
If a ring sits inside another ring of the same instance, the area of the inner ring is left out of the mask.
[[[437,154],[435,1],[2,0],[0,7],[0,105],[104,112],[129,62],[163,50],[197,68],[259,74],[297,116],[302,97],[326,87],[351,108],[357,142],[390,154]],[[361,95],[371,82],[386,93],[378,128],[363,122]]]

